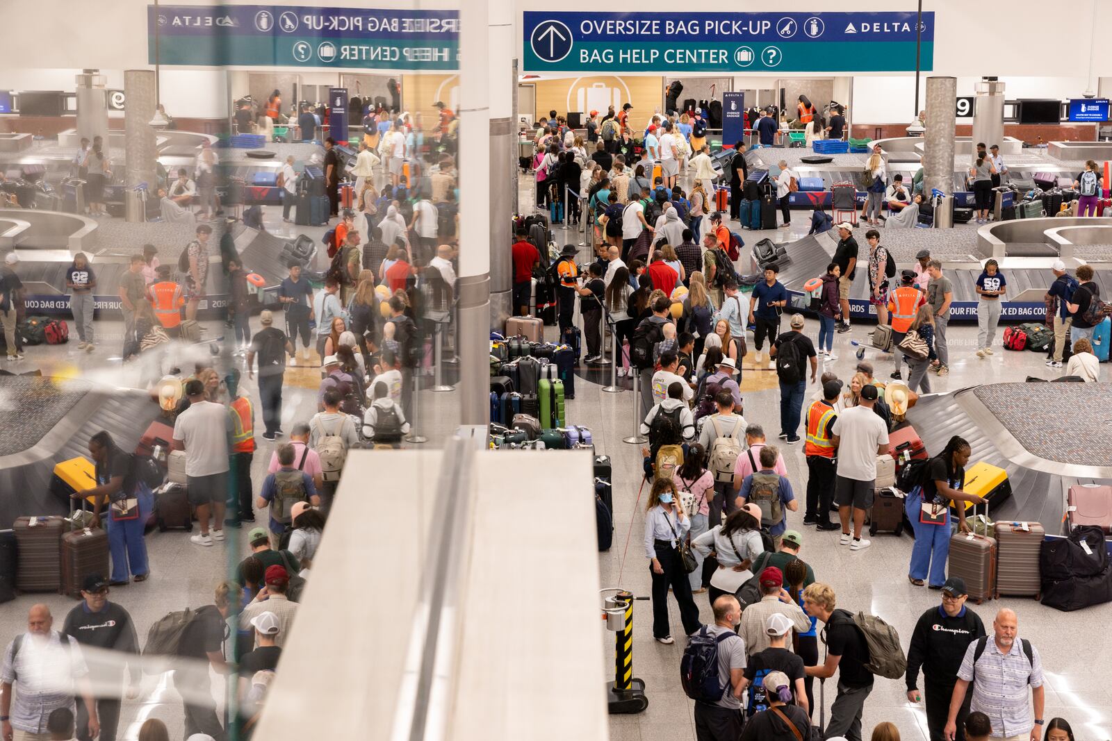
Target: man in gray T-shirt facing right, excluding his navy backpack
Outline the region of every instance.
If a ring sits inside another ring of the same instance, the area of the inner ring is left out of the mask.
[[[711,704],[695,703],[695,735],[701,741],[713,739],[737,739],[742,735],[742,692],[745,685],[745,641],[737,634],[737,625],[742,622],[742,605],[733,594],[724,594],[714,601],[714,624],[699,629],[698,633],[717,640],[723,633],[728,633],[718,643],[718,685],[725,688],[722,699]]]

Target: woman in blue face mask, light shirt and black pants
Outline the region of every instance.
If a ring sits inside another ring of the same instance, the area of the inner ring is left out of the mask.
[[[648,492],[645,514],[645,557],[653,578],[653,638],[661,643],[675,643],[668,623],[668,587],[679,603],[684,634],[691,635],[701,625],[692,585],[676,549],[691,529],[683,508],[676,507],[678,499],[671,478],[657,479]]]

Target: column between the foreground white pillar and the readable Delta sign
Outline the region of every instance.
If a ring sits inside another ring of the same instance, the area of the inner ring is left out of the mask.
[[[490,4],[489,49],[515,49],[514,6]],[[513,53],[513,52],[510,52]],[[514,129],[514,91],[517,80],[506,73],[503,56],[489,56],[490,103],[490,328],[502,331],[513,313],[514,264],[510,254],[513,229],[509,207],[517,191],[517,140]]]

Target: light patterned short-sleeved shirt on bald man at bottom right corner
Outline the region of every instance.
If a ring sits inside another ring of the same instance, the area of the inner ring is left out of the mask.
[[[979,641],[973,641],[969,644],[961,669],[957,670],[959,679],[973,682],[970,710],[989,717],[993,737],[1026,735],[1034,725],[1027,687],[1043,684],[1039,650],[1031,647],[1032,661],[1029,662],[1019,638],[1007,653],[1001,653],[993,635],[989,635],[984,653],[974,668],[973,654],[977,643]]]

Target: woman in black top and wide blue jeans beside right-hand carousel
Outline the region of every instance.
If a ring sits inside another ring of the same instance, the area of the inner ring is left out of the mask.
[[[950,503],[957,505],[957,531],[969,532],[965,522],[964,502],[974,505],[985,500],[976,494],[960,491],[965,480],[965,464],[970,462],[970,443],[954,435],[945,449],[924,462],[907,463],[910,472],[900,472],[900,479],[914,478],[914,487],[907,492],[904,510],[915,531],[915,544],[911,549],[907,581],[916,587],[930,583],[931,589],[940,589],[946,581],[946,560],[950,558]]]

